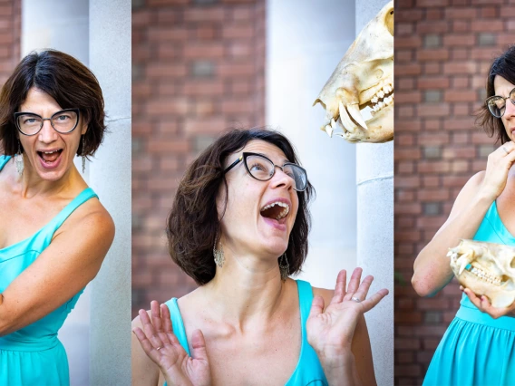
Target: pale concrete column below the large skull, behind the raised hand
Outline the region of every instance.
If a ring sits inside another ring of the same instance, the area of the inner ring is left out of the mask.
[[[387,0],[355,0],[356,36]],[[390,294],[365,314],[377,384],[394,384],[394,141],[357,144],[357,265],[374,275],[370,293]]]

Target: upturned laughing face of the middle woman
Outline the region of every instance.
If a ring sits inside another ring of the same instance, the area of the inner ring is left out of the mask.
[[[225,167],[244,151],[262,154],[278,166],[288,162],[285,153],[277,146],[264,140],[251,140],[243,150],[226,159]],[[298,209],[294,180],[279,168],[276,168],[272,179],[253,179],[248,175],[243,162],[230,169],[226,179],[228,202],[221,219],[224,249],[228,248],[236,256],[281,256],[287,250]],[[219,214],[223,213],[224,198],[225,189],[222,185],[217,198]],[[272,207],[268,207],[270,205]]]

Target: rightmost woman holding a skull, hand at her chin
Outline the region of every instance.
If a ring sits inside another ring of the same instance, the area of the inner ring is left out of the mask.
[[[414,263],[413,288],[438,293],[452,280],[449,247],[461,238],[515,246],[515,46],[491,65],[481,122],[499,149],[462,188],[451,214]],[[462,288],[461,307],[432,358],[424,385],[515,384],[515,304],[495,308]]]

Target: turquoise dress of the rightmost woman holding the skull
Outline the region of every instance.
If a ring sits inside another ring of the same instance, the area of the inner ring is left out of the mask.
[[[515,236],[500,221],[495,201],[474,240],[515,246]],[[463,294],[423,385],[515,385],[515,317],[492,319]]]

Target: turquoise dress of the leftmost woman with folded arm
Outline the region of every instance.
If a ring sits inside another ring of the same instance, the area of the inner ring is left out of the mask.
[[[9,159],[0,156],[0,171]],[[52,241],[53,233],[73,210],[96,197],[92,188],[85,188],[34,236],[0,249],[0,294],[44,251]],[[70,384],[68,359],[63,344],[57,339],[57,331],[82,293],[83,290],[44,318],[15,333],[0,336],[0,386]]]

